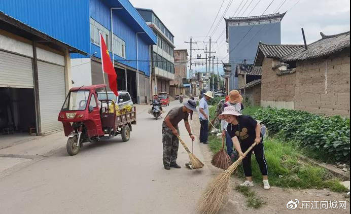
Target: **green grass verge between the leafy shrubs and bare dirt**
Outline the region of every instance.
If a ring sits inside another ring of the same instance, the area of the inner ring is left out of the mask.
[[[215,136],[209,137],[209,148],[215,154],[221,149],[221,140]],[[264,141],[265,158],[268,165],[269,183],[271,186],[298,189],[328,188],[333,192],[347,192],[347,189],[326,169],[305,163],[299,159],[301,152],[289,144],[275,138]],[[253,180],[262,183],[262,175],[252,155]],[[238,167],[236,176],[244,179],[242,167]]]

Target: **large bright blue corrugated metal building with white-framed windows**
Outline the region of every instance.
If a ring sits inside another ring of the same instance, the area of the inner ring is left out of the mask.
[[[74,86],[102,82],[98,40],[102,32],[115,59],[119,90],[127,89],[134,101],[138,93],[141,102],[149,100],[150,45],[157,44],[157,36],[128,0],[0,1],[0,11],[89,54],[71,54]]]

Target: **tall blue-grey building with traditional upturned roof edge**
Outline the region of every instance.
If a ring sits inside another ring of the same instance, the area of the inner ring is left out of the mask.
[[[269,14],[251,17],[229,17],[226,21],[226,39],[228,43],[229,63],[231,67],[247,60],[253,64],[257,45],[260,41],[268,44],[280,44],[280,21],[283,14]],[[229,90],[238,87],[235,69],[229,79]]]

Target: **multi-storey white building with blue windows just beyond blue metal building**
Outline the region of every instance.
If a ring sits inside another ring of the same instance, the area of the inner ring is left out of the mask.
[[[152,93],[169,93],[169,81],[174,80],[174,35],[150,9],[136,8],[157,35],[157,44],[151,46]]]

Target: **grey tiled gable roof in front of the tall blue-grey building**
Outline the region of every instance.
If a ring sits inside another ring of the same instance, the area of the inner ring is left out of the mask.
[[[254,65],[262,66],[264,57],[280,59],[303,47],[303,45],[269,45],[260,42],[257,48]]]

